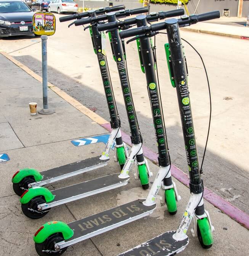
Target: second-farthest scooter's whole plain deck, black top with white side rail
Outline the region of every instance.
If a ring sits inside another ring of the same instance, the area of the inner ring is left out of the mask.
[[[55,207],[57,205],[72,202],[87,196],[92,196],[104,191],[108,191],[114,188],[125,186],[129,178],[120,179],[120,173],[114,173],[100,178],[92,179],[82,183],[74,184],[64,188],[59,188],[51,191],[55,196],[55,199],[49,203],[41,204],[42,209]]]

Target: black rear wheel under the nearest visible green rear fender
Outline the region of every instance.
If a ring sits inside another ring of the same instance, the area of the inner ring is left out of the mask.
[[[54,233],[53,235],[48,236],[48,238],[44,242],[35,243],[35,251],[40,256],[61,255],[64,253],[64,251],[66,251],[67,247],[60,249],[59,251],[55,251],[55,244],[63,240],[64,239],[61,233]]]

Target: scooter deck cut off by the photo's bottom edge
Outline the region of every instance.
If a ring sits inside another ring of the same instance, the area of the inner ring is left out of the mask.
[[[174,233],[175,231],[165,232],[118,256],[169,256],[180,253],[188,245],[189,239],[186,238],[182,241],[176,241],[172,237]]]

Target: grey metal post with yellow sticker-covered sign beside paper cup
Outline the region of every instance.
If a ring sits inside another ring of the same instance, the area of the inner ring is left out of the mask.
[[[37,12],[33,16],[34,33],[41,36],[42,39],[42,91],[43,91],[43,109],[39,114],[53,114],[53,110],[48,108],[48,57],[47,40],[48,36],[55,34],[55,15],[52,13]]]

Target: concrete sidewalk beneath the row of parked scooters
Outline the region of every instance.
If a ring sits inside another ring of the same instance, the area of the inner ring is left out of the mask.
[[[74,107],[63,99],[65,97],[58,96],[55,88],[53,91],[49,89],[49,105],[55,113],[50,116],[30,116],[29,102],[35,101],[37,108],[42,108],[41,83],[1,54],[0,71],[0,154],[6,153],[10,157],[10,161],[0,163],[3,183],[0,188],[0,255],[36,255],[32,236],[47,221],[71,222],[146,197],[148,191],[141,189],[132,170],[130,182],[125,187],[62,205],[38,220],[26,218],[22,214],[19,197],[12,190],[13,173],[25,167],[47,170],[100,155],[103,143],[75,147],[71,140],[106,134],[107,130],[96,120],[82,114],[79,110],[84,106],[80,103]],[[90,114],[91,111],[88,116]],[[158,166],[151,161],[149,166],[155,177]],[[60,188],[115,172],[119,172],[119,166],[114,163],[112,154],[107,167],[54,183],[50,188]],[[78,243],[64,255],[114,256],[167,230],[175,230],[189,198],[189,189],[177,180],[175,182],[182,196],[175,216],[165,212],[165,206],[161,207],[158,199],[157,209],[150,217]],[[205,205],[215,226],[214,245],[209,250],[202,249],[198,239],[191,238],[189,230],[190,244],[181,255],[245,255],[249,244],[248,230],[207,201]]]

